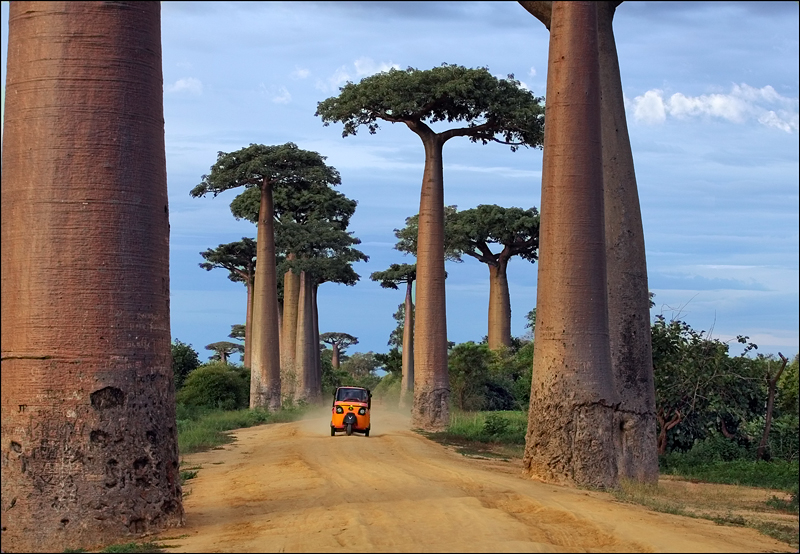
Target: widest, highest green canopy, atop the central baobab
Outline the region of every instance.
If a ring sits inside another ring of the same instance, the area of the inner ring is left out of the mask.
[[[472,142],[490,141],[520,146],[538,146],[544,136],[543,98],[522,88],[509,75],[498,79],[488,68],[466,68],[442,64],[428,70],[409,67],[390,69],[341,87],[339,96],[317,104],[323,125],[342,122],[342,137],[355,135],[361,125],[370,134],[378,120],[415,124],[466,122],[467,126],[441,133],[467,136]]]

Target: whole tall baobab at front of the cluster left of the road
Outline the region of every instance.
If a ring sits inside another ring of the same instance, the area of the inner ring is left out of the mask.
[[[190,192],[199,197],[246,187],[259,189],[257,258],[253,286],[253,338],[250,407],[277,410],[281,406],[279,304],[275,256],[274,190],[298,182],[327,183],[338,174],[316,152],[288,142],[278,146],[251,144],[236,152],[219,152],[211,172]],[[267,263],[264,263],[264,262]]]

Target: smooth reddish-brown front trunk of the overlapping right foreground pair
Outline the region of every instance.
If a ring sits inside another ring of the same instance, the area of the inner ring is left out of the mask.
[[[553,2],[533,382],[524,466],[616,486],[608,335],[597,10]]]

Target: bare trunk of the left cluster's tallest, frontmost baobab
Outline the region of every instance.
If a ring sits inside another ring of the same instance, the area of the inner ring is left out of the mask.
[[[275,212],[272,183],[260,185],[261,204],[256,236],[256,278],[253,286],[253,349],[250,353],[250,407],[281,407],[280,325],[275,269]]]

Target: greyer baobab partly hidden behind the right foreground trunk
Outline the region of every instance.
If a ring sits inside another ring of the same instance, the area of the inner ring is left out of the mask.
[[[654,483],[658,480],[658,455],[647,261],[612,25],[621,3],[595,3],[609,340],[621,402],[617,413],[620,420],[617,466],[623,477]],[[520,4],[550,29],[552,2],[521,1]]]

